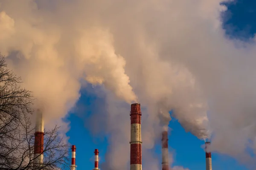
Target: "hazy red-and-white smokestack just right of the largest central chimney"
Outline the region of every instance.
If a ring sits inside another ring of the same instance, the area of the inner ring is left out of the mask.
[[[169,170],[168,159],[168,132],[162,132],[162,170]]]

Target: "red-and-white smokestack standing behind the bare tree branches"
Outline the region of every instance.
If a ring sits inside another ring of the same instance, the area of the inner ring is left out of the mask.
[[[34,163],[43,164],[44,161],[44,120],[43,113],[37,112],[35,122],[35,143],[34,143]]]

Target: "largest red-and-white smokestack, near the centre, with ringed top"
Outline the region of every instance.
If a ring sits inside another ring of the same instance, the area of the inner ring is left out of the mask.
[[[140,104],[131,104],[131,160],[130,170],[142,170],[141,164],[141,111]]]

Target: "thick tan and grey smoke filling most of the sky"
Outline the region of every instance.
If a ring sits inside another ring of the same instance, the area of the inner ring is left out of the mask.
[[[154,147],[172,110],[199,139],[212,132],[212,150],[248,161],[246,147],[256,145],[256,48],[227,40],[220,2],[0,0],[0,51],[48,119],[75,105],[81,79],[104,85],[115,142],[110,169],[129,160],[117,154],[129,150],[129,106],[116,100],[137,96],[143,150]]]

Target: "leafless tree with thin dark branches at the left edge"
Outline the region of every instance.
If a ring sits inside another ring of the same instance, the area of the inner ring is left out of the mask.
[[[34,162],[35,128],[31,91],[20,87],[21,78],[7,68],[0,55],[0,168],[11,170],[69,169],[69,146],[56,125],[44,134],[44,163]]]

